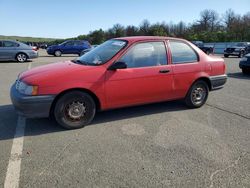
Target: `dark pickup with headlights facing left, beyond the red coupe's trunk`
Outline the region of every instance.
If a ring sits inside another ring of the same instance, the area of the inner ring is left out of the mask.
[[[238,56],[243,57],[245,54],[250,53],[250,42],[239,42],[234,46],[224,50],[224,57]]]

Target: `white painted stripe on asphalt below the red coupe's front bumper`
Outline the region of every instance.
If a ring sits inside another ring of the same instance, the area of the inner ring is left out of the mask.
[[[25,122],[26,119],[24,117],[18,117],[4,188],[18,188],[19,186]]]

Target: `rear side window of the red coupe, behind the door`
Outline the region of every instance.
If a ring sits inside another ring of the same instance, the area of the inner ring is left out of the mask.
[[[198,61],[195,51],[184,42],[170,41],[170,49],[172,53],[172,62],[174,64]]]

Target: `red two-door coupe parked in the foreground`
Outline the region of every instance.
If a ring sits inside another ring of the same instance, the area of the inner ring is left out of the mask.
[[[124,37],[75,60],[21,73],[11,99],[21,115],[53,115],[72,129],[89,124],[97,110],[176,99],[198,108],[226,80],[224,60],[186,40]]]

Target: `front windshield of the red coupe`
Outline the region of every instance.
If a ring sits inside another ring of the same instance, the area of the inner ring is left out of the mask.
[[[77,59],[78,63],[100,65],[106,63],[126,46],[124,40],[108,40]]]

